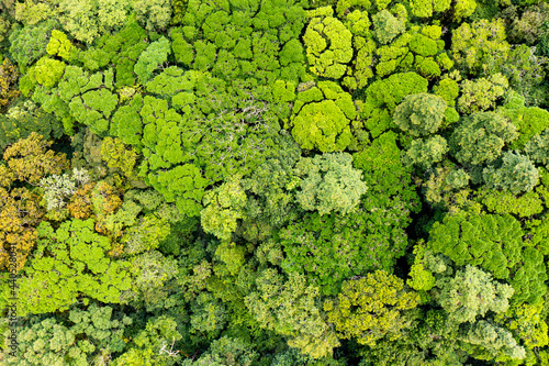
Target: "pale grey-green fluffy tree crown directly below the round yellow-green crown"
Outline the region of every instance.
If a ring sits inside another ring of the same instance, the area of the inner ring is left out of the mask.
[[[367,191],[360,170],[352,168],[352,156],[346,153],[302,157],[294,171],[303,177],[295,193],[304,210],[318,210],[321,215],[351,212]]]

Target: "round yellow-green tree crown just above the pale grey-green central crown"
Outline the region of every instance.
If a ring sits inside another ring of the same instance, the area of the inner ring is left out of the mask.
[[[350,95],[335,82],[318,81],[317,87],[298,95],[292,136],[302,148],[340,152],[352,142],[349,123],[356,117]]]

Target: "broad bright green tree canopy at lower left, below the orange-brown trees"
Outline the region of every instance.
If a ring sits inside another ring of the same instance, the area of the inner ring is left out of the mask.
[[[121,291],[130,288],[130,264],[105,257],[110,248],[109,239],[93,232],[91,219],[66,221],[55,232],[42,222],[34,258],[21,280],[18,311],[65,310],[78,296],[119,303]]]

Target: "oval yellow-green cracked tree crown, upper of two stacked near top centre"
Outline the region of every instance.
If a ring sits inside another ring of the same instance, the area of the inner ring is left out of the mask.
[[[339,79],[352,58],[352,34],[336,18],[313,18],[303,36],[311,73]]]

